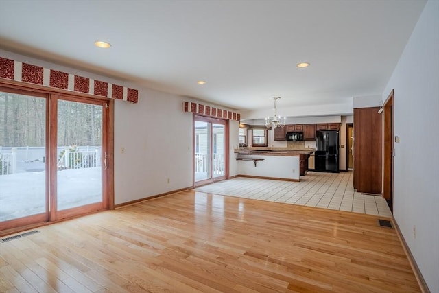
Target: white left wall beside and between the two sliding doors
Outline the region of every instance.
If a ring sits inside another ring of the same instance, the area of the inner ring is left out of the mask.
[[[183,102],[193,100],[137,89],[137,104],[116,101],[115,106],[115,204],[193,185],[193,114],[182,110]],[[229,169],[234,176],[239,121],[230,121],[229,128]]]

